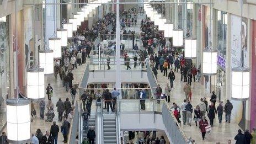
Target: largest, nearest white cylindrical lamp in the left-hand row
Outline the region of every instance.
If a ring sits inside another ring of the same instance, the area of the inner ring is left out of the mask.
[[[11,143],[30,142],[30,101],[28,99],[6,100],[7,138]]]

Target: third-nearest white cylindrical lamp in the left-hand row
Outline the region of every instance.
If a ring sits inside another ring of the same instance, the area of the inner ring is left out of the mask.
[[[53,50],[39,50],[39,66],[44,68],[44,74],[54,73]]]

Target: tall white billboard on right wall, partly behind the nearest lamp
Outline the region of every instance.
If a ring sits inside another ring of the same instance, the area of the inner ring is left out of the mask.
[[[247,47],[247,26],[247,18],[242,18],[241,23],[241,17],[231,14],[231,70],[235,67],[248,68],[249,66],[249,47]],[[236,122],[239,123],[239,126],[241,126],[241,128],[244,129],[246,121],[246,111],[243,110],[243,103],[241,101],[232,99],[231,103],[235,105],[233,106],[232,110],[232,114],[234,114],[233,117],[236,120]]]

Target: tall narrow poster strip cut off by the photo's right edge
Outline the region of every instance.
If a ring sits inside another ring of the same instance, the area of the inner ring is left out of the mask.
[[[253,20],[252,33],[252,88],[250,97],[250,130],[256,128],[256,21]]]

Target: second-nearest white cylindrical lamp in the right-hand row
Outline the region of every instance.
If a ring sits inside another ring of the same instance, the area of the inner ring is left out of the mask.
[[[217,73],[217,50],[204,50],[202,61],[202,73],[214,75]]]

